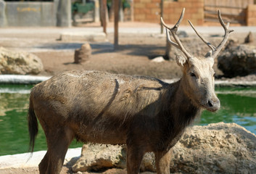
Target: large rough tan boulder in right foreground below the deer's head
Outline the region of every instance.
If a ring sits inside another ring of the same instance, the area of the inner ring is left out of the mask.
[[[171,172],[255,173],[256,136],[235,123],[187,128],[173,147]]]

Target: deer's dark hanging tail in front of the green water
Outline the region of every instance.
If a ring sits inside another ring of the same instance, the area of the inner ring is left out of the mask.
[[[28,132],[30,136],[30,143],[29,143],[29,149],[28,152],[33,153],[35,141],[36,141],[36,135],[38,133],[38,122],[36,119],[36,114],[34,112],[33,108],[33,101],[30,98],[29,108],[28,108]]]

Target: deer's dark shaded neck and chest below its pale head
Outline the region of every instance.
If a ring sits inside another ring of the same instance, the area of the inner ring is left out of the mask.
[[[181,79],[182,80],[182,79]],[[167,94],[168,109],[166,110],[165,118],[162,118],[163,136],[165,136],[165,148],[171,148],[176,144],[181,137],[186,126],[188,126],[197,115],[201,114],[201,109],[192,104],[191,99],[186,96],[183,91],[182,81],[170,84]]]

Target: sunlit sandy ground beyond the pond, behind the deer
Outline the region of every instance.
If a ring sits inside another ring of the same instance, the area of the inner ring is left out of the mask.
[[[74,64],[74,51],[86,41],[60,41],[63,32],[80,33],[81,31],[101,32],[97,23],[83,25],[83,28],[0,28],[0,46],[16,51],[29,51],[41,58],[44,71],[39,75],[51,76],[66,70],[103,70],[128,75],[149,75],[161,79],[180,78],[181,70],[176,61],[152,62],[154,57],[165,56],[165,33],[160,34],[160,25],[150,23],[120,23],[119,47],[114,49],[112,24],[107,28],[106,42],[89,42],[92,48],[88,62]],[[189,37],[196,37],[191,28],[181,27]],[[247,31],[256,28],[236,28],[239,33],[231,33],[230,38],[242,43]],[[242,32],[244,30],[244,33]],[[203,36],[222,36],[223,28],[199,27]],[[233,34],[233,35],[232,35]],[[256,33],[254,43],[256,44]],[[205,46],[199,38],[191,43],[190,48]],[[207,47],[207,46],[205,46]],[[205,52],[202,53],[202,56]],[[222,75],[217,64],[217,75]],[[252,78],[252,77],[251,77]]]

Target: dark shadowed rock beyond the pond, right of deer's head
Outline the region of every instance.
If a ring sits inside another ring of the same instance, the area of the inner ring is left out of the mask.
[[[228,78],[256,72],[256,46],[231,46],[219,54],[218,67]]]

